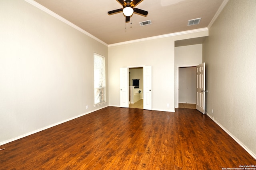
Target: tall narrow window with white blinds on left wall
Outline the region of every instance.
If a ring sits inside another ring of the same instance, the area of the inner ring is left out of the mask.
[[[106,103],[105,57],[94,53],[94,106]]]

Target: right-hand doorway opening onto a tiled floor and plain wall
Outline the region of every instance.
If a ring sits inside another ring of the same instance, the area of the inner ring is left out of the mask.
[[[178,66],[178,108],[196,109],[196,65]]]

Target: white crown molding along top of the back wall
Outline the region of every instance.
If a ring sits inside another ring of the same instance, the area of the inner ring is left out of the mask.
[[[170,33],[170,34],[163,34],[163,35],[160,35],[160,36],[152,36],[152,37],[148,37],[148,38],[141,38],[141,39],[137,39],[137,40],[118,42],[118,43],[115,43],[115,44],[109,44],[108,47],[119,46],[119,45],[123,45],[123,44],[130,44],[130,43],[134,43],[134,42],[141,42],[141,41],[146,41],[146,40],[154,40],[154,39],[158,39],[158,38],[165,38],[165,37],[171,37],[171,36],[191,34],[191,33],[202,32],[202,31],[208,31],[208,28],[199,28],[199,29],[194,29],[194,30],[174,32],[174,33]]]

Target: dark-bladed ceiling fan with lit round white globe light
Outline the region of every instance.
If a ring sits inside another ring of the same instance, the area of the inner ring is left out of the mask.
[[[126,16],[125,22],[130,21],[130,16],[133,13],[137,13],[137,14],[141,14],[143,16],[147,16],[148,11],[144,11],[144,10],[141,10],[141,9],[138,9],[138,8],[134,8],[141,1],[142,0],[125,0],[125,1],[124,0],[118,0],[118,2],[120,2],[120,4],[123,6],[123,8],[108,11],[108,14],[115,14],[115,13],[123,11],[124,15]]]

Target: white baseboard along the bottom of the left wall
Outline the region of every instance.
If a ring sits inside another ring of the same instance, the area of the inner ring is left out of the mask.
[[[75,117],[72,117],[72,118],[69,118],[69,119],[66,119],[66,120],[60,121],[60,122],[58,122],[58,123],[51,124],[51,125],[49,125],[49,126],[45,126],[45,127],[40,128],[40,129],[38,129],[38,130],[34,130],[34,131],[32,131],[32,132],[28,132],[28,133],[26,133],[26,134],[23,134],[23,135],[21,135],[21,136],[15,137],[15,138],[12,138],[12,139],[10,139],[10,140],[3,141],[3,142],[1,142],[1,143],[0,143],[0,146],[1,146],[1,145],[4,145],[4,144],[7,144],[7,143],[9,143],[9,142],[13,142],[14,140],[18,140],[18,139],[24,138],[24,137],[26,137],[26,136],[29,136],[29,135],[35,134],[35,133],[37,133],[37,132],[40,132],[40,131],[46,130],[46,129],[48,129],[48,128],[52,128],[53,126],[56,126],[56,125],[59,125],[59,124],[62,124],[62,123],[68,122],[68,121],[70,121],[70,120],[73,120],[73,119],[79,118],[79,117],[81,117],[81,116],[84,116],[84,115],[86,115],[86,114],[89,114],[89,113],[95,112],[95,111],[97,111],[97,110],[100,110],[100,109],[102,109],[102,108],[106,108],[106,107],[108,107],[108,106],[104,106],[104,107],[101,107],[101,108],[97,108],[97,109],[95,109],[95,110],[91,110],[90,112],[86,112],[86,113],[84,113],[84,114],[80,114],[80,115],[78,115],[78,116],[75,116]]]

